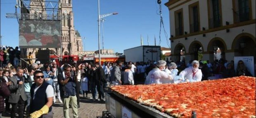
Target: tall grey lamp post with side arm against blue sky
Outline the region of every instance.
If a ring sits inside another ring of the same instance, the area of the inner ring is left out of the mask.
[[[118,13],[111,13],[111,14],[103,14],[103,15],[100,15],[100,0],[98,0],[98,46],[99,46],[99,64],[101,65],[101,59],[100,59],[100,19],[101,18],[104,18],[106,16],[109,16],[109,15],[116,15]]]

